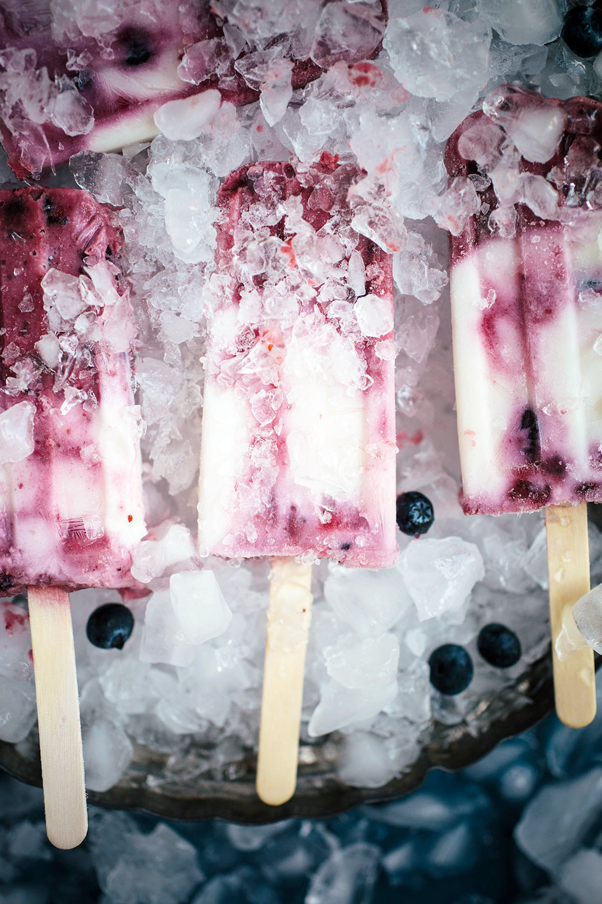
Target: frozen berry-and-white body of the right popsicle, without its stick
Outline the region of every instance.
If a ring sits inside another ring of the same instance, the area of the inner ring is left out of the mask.
[[[516,115],[527,116],[532,93],[509,90]],[[587,98],[548,102],[566,117],[558,146],[544,163],[520,156],[518,172],[547,179],[560,214],[545,219],[517,203],[516,231],[502,236],[491,219],[497,199],[489,184],[479,192],[481,211],[449,240],[466,513],[602,501],[595,349],[602,333],[602,106]],[[481,111],[471,114],[449,138],[450,180],[482,179],[466,136],[484,128],[489,152],[499,152],[504,129]]]

